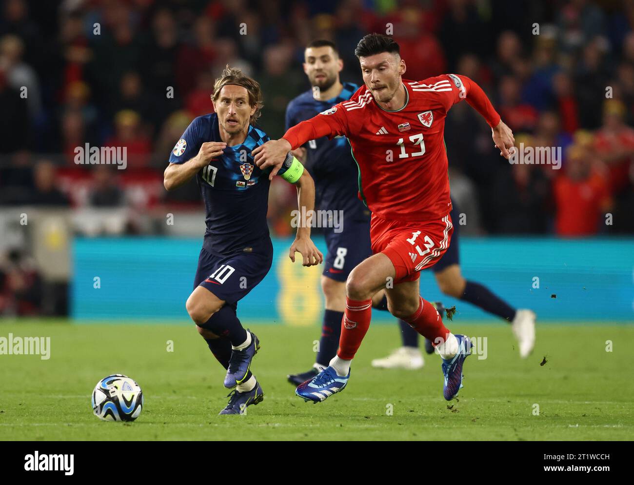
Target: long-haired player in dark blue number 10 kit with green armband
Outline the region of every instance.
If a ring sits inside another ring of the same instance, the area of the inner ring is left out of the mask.
[[[266,223],[271,171],[261,171],[251,155],[269,138],[253,126],[262,107],[259,84],[239,69],[224,70],[212,101],[216,112],[193,120],[174,146],[164,184],[172,190],[195,176],[205,202],[207,229],[186,309],[227,370],[224,386],[235,387],[220,414],[238,414],[264,397],[250,371],[259,339],[242,327],[236,309],[273,261]],[[301,162],[289,154],[276,173],[297,185],[299,209],[313,210],[314,183]],[[299,252],[304,266],[323,261],[309,222],[299,224],[290,247],[290,259]]]

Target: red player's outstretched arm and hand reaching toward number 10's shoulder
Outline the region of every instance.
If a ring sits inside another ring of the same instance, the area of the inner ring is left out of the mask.
[[[264,145],[258,146],[252,152],[256,165],[262,170],[272,167],[269,175],[269,179],[272,180],[280,170],[281,164],[284,163],[290,150],[299,148],[311,139],[321,138],[322,136],[332,138],[336,135],[346,134],[345,111],[345,108],[341,105],[332,107],[330,110],[326,110],[288,129],[283,138],[269,140]]]

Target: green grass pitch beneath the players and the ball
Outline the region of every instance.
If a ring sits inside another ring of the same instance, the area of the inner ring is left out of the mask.
[[[375,324],[352,366],[347,389],[304,403],[288,373],[313,363],[319,328],[252,325],[262,342],[252,369],[264,401],[243,416],[226,404],[224,370],[193,325],[72,325],[4,321],[0,337],[51,337],[51,358],[0,355],[3,440],[626,440],[634,436],[632,325],[543,324],[535,352],[521,360],[510,327],[460,323],[487,337],[488,356],[470,356],[459,401],[442,396],[438,356],[420,371],[378,370],[370,360],[399,344],[396,325]],[[246,325],[245,325],[246,326]],[[173,352],[167,341],[173,341]],[[606,351],[612,341],[612,352]],[[545,365],[540,365],[546,356]],[[124,373],[145,393],[132,424],[93,416],[100,378]],[[534,415],[535,404],[539,415]],[[449,408],[448,406],[452,406]],[[389,411],[392,411],[390,413]]]

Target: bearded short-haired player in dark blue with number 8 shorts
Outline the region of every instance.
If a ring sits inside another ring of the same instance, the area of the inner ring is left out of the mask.
[[[359,87],[351,82],[340,82],[343,61],[330,41],[311,42],[304,51],[304,60],[304,72],[312,89],[288,104],[286,129],[349,100]],[[321,288],[326,308],[320,347],[311,370],[288,376],[289,382],[299,385],[316,375],[320,368],[326,368],[337,352],[341,320],[346,309],[346,279],[355,266],[372,255],[372,249],[370,210],[357,197],[359,170],[346,137],[314,139],[292,153],[306,164],[314,178],[320,210],[332,215],[332,224],[325,228],[328,252]],[[387,311],[384,292],[375,296],[373,306]],[[411,365],[414,368],[422,366],[420,351],[411,353]]]

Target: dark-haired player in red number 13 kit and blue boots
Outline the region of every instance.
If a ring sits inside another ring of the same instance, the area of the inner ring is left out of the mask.
[[[450,400],[462,387],[462,365],[471,342],[447,330],[418,290],[420,270],[440,259],[453,231],[444,118],[455,103],[466,100],[491,126],[495,146],[505,158],[514,150],[513,134],[484,91],[467,77],[404,80],[405,61],[390,37],[363,37],[355,55],[365,86],[349,101],[297,124],[283,138],[253,152],[259,167],[273,167],[273,176],[289,150],[311,139],[344,135],[359,165],[359,197],[372,211],[373,255],[346,281],[337,356],[295,392],[319,402],[346,387],[351,360],[370,326],[372,296],[385,288],[389,311],[434,342],[443,358],[444,398]]]

